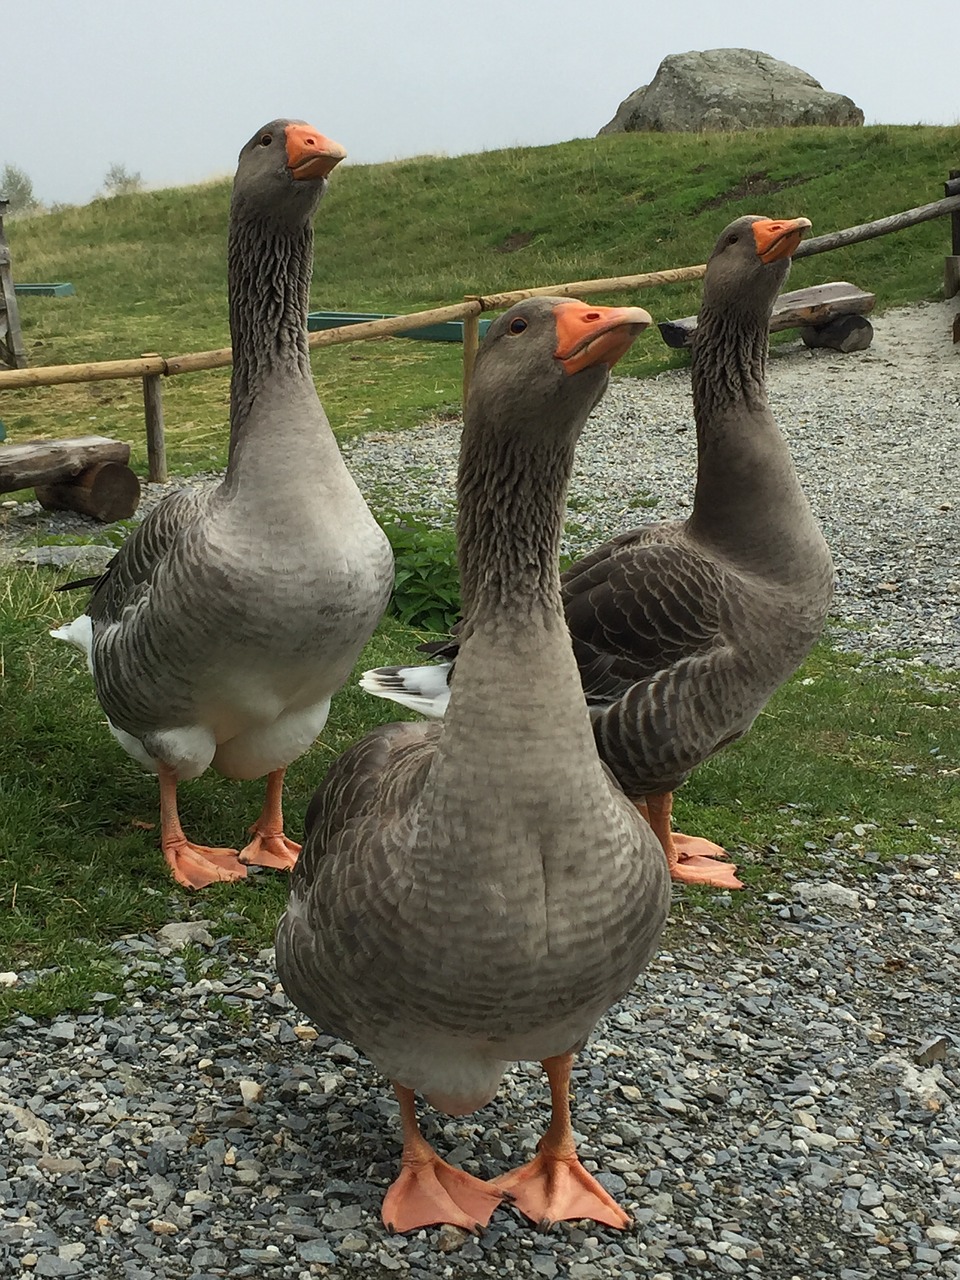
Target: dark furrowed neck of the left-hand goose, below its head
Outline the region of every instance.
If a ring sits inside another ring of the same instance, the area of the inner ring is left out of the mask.
[[[312,224],[278,230],[260,219],[236,219],[228,244],[233,376],[230,451],[256,397],[278,374],[311,381],[306,315],[314,265]]]

